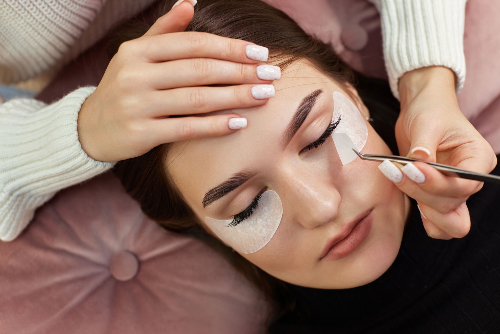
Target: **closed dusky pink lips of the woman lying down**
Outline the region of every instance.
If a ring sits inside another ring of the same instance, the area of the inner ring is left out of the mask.
[[[366,217],[357,222],[352,228],[352,231],[338,241],[330,250],[323,256],[323,260],[338,260],[344,256],[350,254],[354,249],[356,249],[363,241],[366,239],[371,230],[371,223],[373,221],[373,215],[371,210]]]

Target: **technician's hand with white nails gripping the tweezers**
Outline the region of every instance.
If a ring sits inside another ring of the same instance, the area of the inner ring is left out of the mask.
[[[395,136],[400,155],[480,173],[496,166],[491,146],[458,108],[450,69],[407,72],[399,81],[399,94],[401,113]],[[395,184],[417,201],[427,234],[436,239],[464,237],[470,229],[465,200],[483,183],[445,176],[423,162],[413,166],[416,169],[403,167],[402,181]]]

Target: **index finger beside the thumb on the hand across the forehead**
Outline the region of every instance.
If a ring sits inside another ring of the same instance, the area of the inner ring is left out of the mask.
[[[266,61],[268,49],[252,43],[202,32],[147,36],[135,41],[139,56],[149,62],[185,58],[214,58],[254,64]],[[247,46],[249,46],[247,48]]]

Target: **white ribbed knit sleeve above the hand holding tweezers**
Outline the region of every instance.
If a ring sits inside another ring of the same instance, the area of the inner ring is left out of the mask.
[[[392,94],[408,71],[444,66],[465,82],[463,26],[467,0],[368,0],[380,13],[383,55]]]

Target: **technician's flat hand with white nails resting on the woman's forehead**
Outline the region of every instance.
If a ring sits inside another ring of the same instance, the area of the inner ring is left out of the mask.
[[[252,43],[184,32],[193,13],[184,1],[143,36],[120,45],[78,115],[79,141],[89,157],[124,160],[162,143],[239,131],[246,119],[233,113],[170,116],[252,107],[274,96],[268,84],[279,79],[279,68],[257,69],[262,64],[249,58],[266,60],[267,49],[246,50]],[[205,86],[214,84],[231,86]]]

